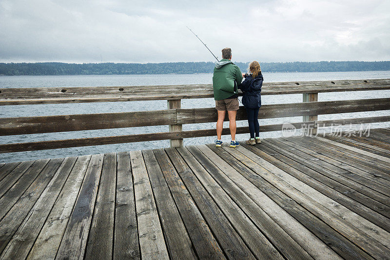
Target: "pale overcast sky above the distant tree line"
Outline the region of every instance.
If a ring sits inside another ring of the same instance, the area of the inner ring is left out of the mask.
[[[390,60],[390,0],[0,0],[0,62]],[[101,57],[101,58],[100,58]]]

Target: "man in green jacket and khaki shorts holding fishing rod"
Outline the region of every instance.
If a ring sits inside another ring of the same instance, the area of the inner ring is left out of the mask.
[[[238,110],[237,86],[241,84],[241,81],[241,70],[232,62],[232,49],[224,48],[222,50],[222,60],[215,64],[213,74],[215,109],[218,113],[218,120],[216,122],[216,147],[221,147],[222,145],[221,135],[226,111],[228,111],[229,115],[229,128],[232,136],[230,147],[240,145],[235,140],[235,116]]]

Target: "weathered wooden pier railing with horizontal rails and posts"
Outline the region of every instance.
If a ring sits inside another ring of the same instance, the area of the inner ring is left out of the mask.
[[[318,121],[318,115],[389,110],[389,98],[365,100],[318,101],[318,93],[389,90],[390,79],[337,80],[264,83],[262,95],[303,94],[302,103],[263,105],[259,119],[302,116],[303,121],[316,127],[334,124],[359,124],[390,121],[390,116]],[[242,93],[240,93],[242,95]],[[214,136],[215,129],[182,131],[183,124],[216,122],[217,113],[212,108],[181,108],[181,99],[213,98],[213,86],[123,86],[123,87],[66,87],[66,88],[2,88],[0,105],[56,104],[80,102],[117,102],[136,100],[168,100],[168,109],[140,112],[80,114],[63,116],[37,116],[1,118],[0,135],[22,135],[80,130],[111,129],[169,125],[169,132],[68,140],[50,140],[27,143],[1,144],[0,153],[103,145],[150,140],[171,140],[171,146],[182,146],[184,138]],[[227,118],[226,118],[227,120]],[[240,107],[236,120],[246,120],[246,111]],[[293,122],[297,129],[302,122]],[[282,124],[262,125],[260,131],[280,131]],[[237,134],[248,133],[248,127],[238,127]],[[223,129],[223,134],[229,134]]]

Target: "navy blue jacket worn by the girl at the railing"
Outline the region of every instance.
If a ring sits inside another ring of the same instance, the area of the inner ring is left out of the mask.
[[[263,85],[263,75],[260,73],[256,78],[252,77],[252,74],[247,76],[239,89],[244,93],[242,97],[242,104],[246,108],[258,108],[261,106],[261,86]]]

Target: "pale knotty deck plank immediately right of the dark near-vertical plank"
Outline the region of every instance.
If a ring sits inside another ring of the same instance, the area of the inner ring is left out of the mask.
[[[130,152],[141,258],[169,259],[141,151]]]

